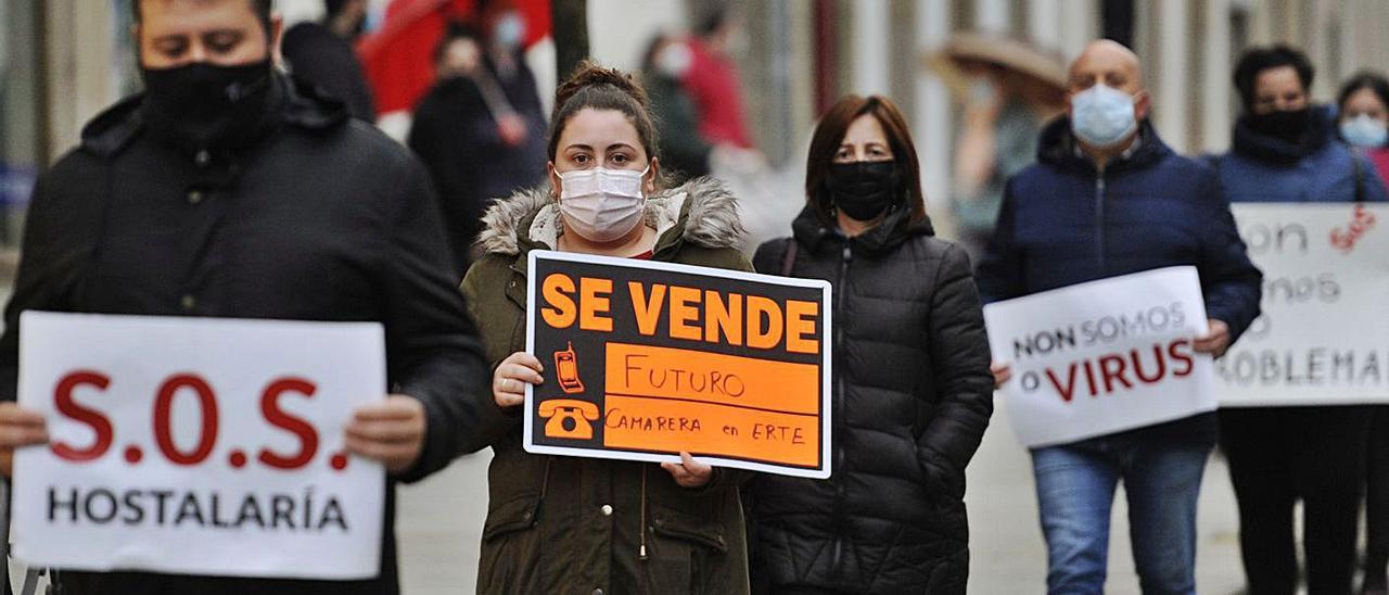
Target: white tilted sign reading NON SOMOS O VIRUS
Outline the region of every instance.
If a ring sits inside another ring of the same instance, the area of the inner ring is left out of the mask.
[[[1171,267],[985,306],[1000,392],[1026,446],[1178,420],[1215,409],[1195,267]]]

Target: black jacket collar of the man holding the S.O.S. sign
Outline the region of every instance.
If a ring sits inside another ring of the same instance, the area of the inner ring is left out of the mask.
[[[311,85],[275,74],[275,85],[285,100],[281,103],[281,124],[324,131],[347,122],[347,106],[336,99],[319,95]],[[144,93],[122,99],[106,111],[97,114],[82,127],[81,149],[97,157],[113,157],[131,145],[143,131],[144,120],[140,106]]]

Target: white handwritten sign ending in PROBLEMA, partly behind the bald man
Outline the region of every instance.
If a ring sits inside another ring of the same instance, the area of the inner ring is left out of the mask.
[[[1217,361],[1222,407],[1389,402],[1389,204],[1235,204],[1263,316]]]

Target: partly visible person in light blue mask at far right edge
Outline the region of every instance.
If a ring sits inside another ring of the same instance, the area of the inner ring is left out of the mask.
[[[1346,81],[1336,99],[1340,138],[1370,158],[1381,179],[1389,179],[1389,81],[1360,72]],[[1389,406],[1372,406],[1365,450],[1365,574],[1363,595],[1389,594]]]

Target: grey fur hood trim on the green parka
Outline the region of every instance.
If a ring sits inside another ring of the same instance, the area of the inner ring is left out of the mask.
[[[482,215],[482,224],[478,245],[488,254],[506,256],[519,254],[522,247],[553,249],[563,229],[549,182],[496,200]],[[646,225],[656,229],[657,252],[676,241],[714,249],[739,247],[745,234],[738,199],[714,178],[694,178],[649,197]]]

